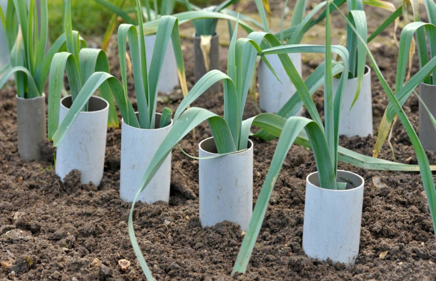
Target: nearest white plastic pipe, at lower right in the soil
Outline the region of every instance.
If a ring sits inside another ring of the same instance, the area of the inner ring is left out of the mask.
[[[320,188],[318,172],[306,178],[303,250],[311,258],[354,264],[359,253],[364,179],[338,170],[337,180],[355,187],[348,183],[346,190]]]

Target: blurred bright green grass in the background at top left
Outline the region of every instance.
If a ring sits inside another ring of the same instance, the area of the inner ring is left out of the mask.
[[[117,4],[119,0],[109,0]],[[160,3],[162,0],[159,0]],[[165,1],[165,0],[164,0]],[[150,0],[150,4],[152,4]],[[220,0],[190,0],[190,3],[201,7],[216,5]],[[49,0],[49,34],[50,41],[53,42],[63,31],[62,23],[62,3],[63,0]],[[142,1],[144,5],[144,1]],[[174,12],[186,11],[184,5],[177,4]],[[71,12],[73,29],[80,32],[82,36],[102,36],[110,21],[112,13],[92,0],[73,0],[71,1]]]

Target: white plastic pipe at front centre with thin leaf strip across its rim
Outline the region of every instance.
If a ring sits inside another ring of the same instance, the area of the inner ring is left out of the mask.
[[[202,227],[231,221],[245,231],[253,212],[253,143],[246,151],[199,160]],[[216,156],[213,138],[199,144],[199,157]]]

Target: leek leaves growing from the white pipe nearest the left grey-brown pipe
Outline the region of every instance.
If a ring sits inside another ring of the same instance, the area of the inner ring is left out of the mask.
[[[64,83],[64,72],[70,86],[70,95],[74,101],[86,85],[92,73],[104,71],[109,73],[109,62],[106,53],[101,49],[86,48],[86,42],[81,40],[77,31],[72,30],[71,2],[64,0],[64,34],[67,51],[53,55],[49,73],[48,99],[48,138],[54,140],[58,127],[61,95]],[[85,47],[85,48],[82,48]],[[95,91],[95,90],[94,90]],[[118,126],[118,118],[113,101],[113,95],[107,84],[100,86],[100,95],[109,103],[109,126]],[[82,110],[87,110],[87,103]],[[77,113],[78,114],[78,113]]]

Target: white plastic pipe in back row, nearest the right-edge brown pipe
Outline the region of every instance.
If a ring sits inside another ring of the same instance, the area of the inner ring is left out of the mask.
[[[333,92],[338,88],[339,79],[333,79]],[[371,96],[371,69],[365,67],[359,99],[354,103],[357,87],[357,78],[348,79],[342,95],[343,107],[339,134],[347,137],[366,137],[372,135],[372,96]]]

